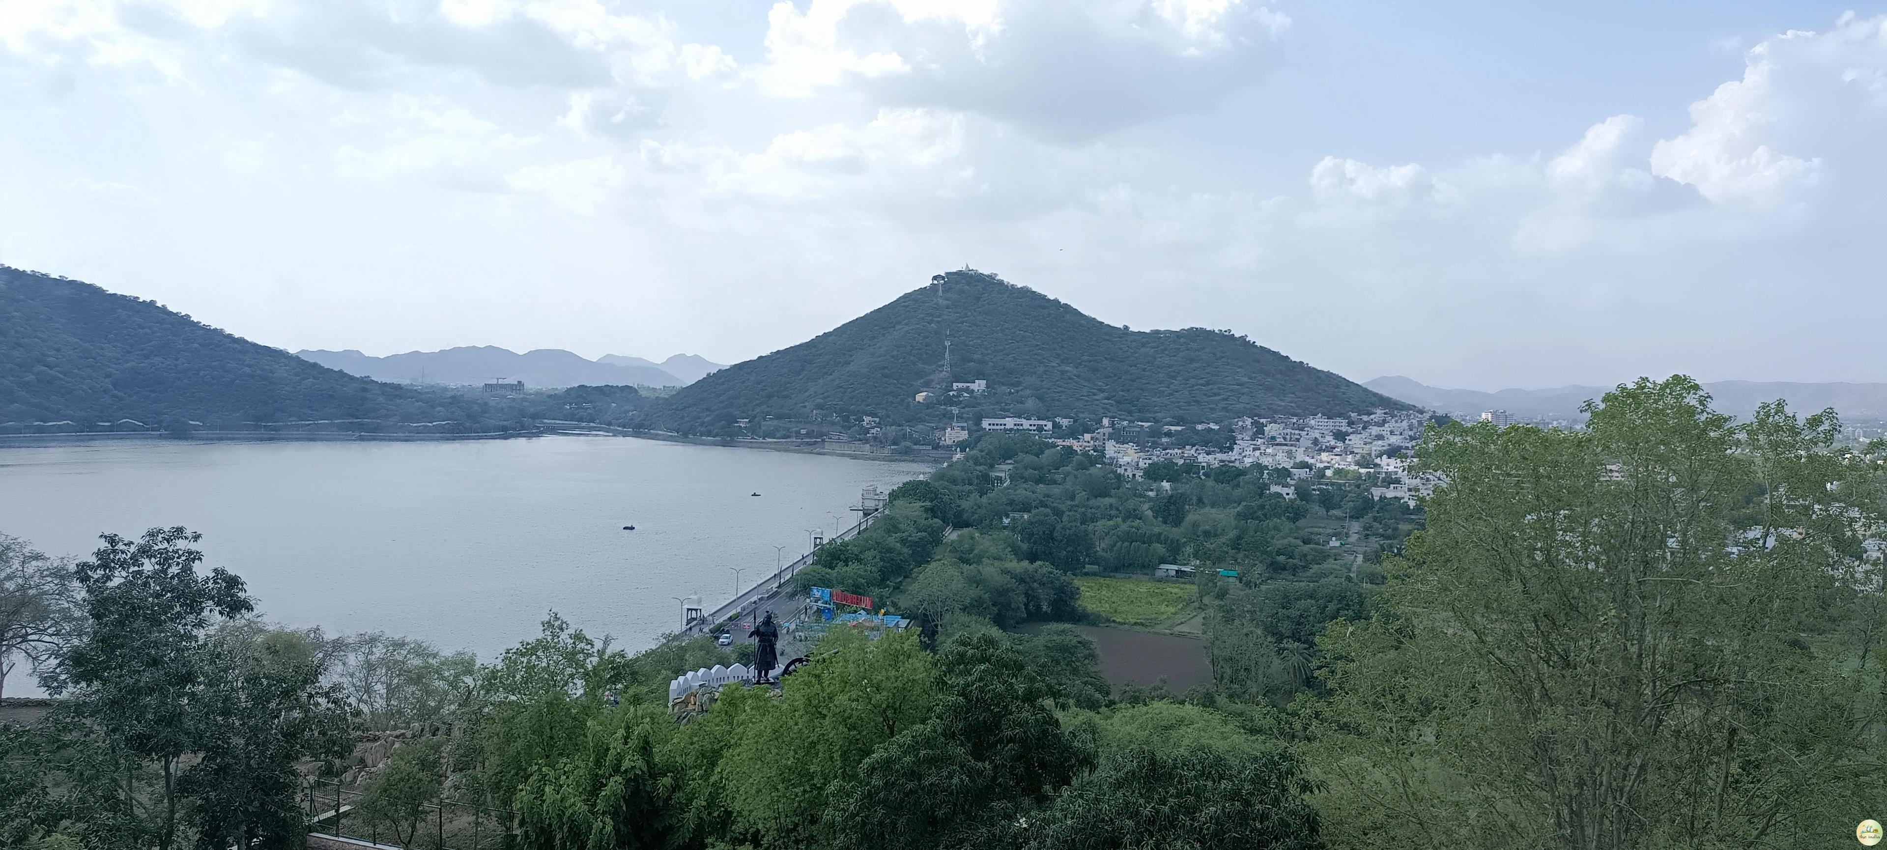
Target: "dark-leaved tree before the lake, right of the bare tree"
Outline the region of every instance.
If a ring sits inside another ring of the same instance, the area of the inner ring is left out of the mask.
[[[234,573],[196,573],[198,541],[183,528],[153,528],[138,541],[104,535],[106,545],[74,567],[91,626],[47,682],[55,694],[74,694],[126,752],[159,763],[160,850],[177,831],[177,761],[200,746],[204,635],[215,620],[253,607]]]

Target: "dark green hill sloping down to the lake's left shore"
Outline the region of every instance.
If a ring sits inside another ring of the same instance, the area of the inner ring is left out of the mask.
[[[125,418],[226,430],[494,428],[491,405],[474,398],[353,377],[157,302],[0,266],[0,428],[70,420],[66,430],[98,430]]]

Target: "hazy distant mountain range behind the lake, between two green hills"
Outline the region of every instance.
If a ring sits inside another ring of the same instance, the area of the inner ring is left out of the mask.
[[[604,354],[587,360],[562,349],[536,349],[523,354],[496,345],[472,345],[445,351],[409,351],[406,354],[368,356],[347,351],[298,351],[313,360],[349,375],[406,384],[483,384],[493,381],[523,381],[534,388],[562,386],[685,386],[719,369],[694,354],[676,354],[660,364],[651,360]]]

